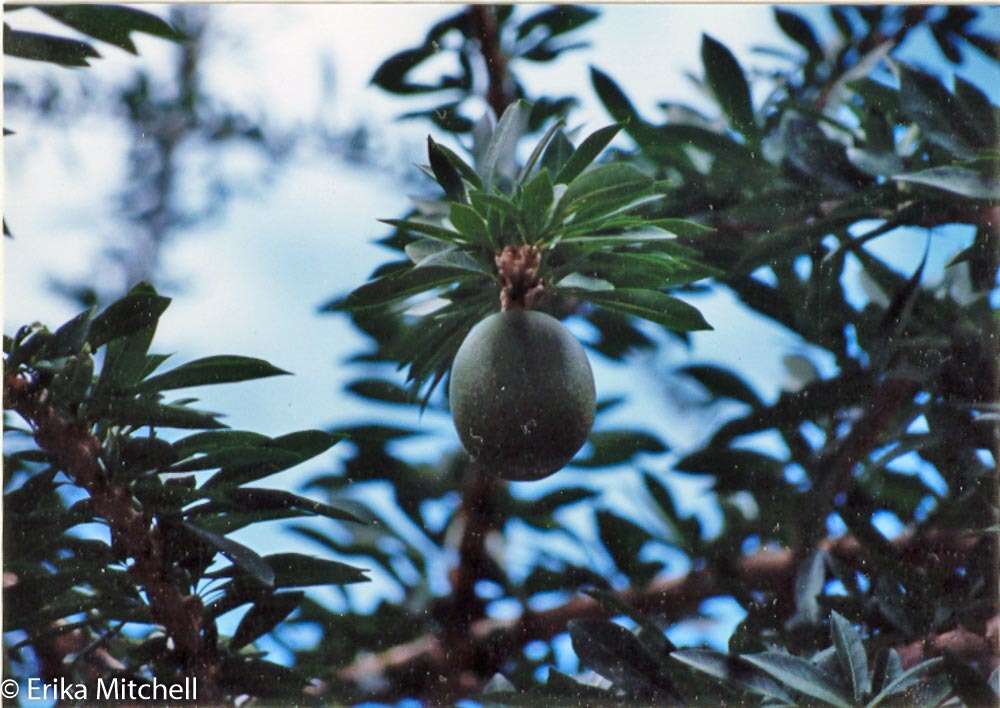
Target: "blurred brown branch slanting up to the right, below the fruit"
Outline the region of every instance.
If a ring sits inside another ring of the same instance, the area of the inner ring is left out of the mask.
[[[971,535],[931,532],[904,534],[891,545],[901,561],[941,567],[965,562],[966,554],[978,540]],[[820,547],[861,570],[873,562],[864,545],[853,536],[827,539]],[[792,592],[797,570],[798,558],[793,550],[764,550],[740,558],[725,574],[712,569],[696,570],[680,578],[655,581],[645,589],[626,590],[619,593],[619,598],[644,615],[677,620],[695,614],[706,599],[727,594],[733,583],[787,596]],[[566,631],[570,620],[608,616],[603,605],[580,596],[551,610],[525,612],[516,620],[483,618],[471,624],[465,651],[474,657],[481,681],[492,676],[525,643],[551,639]],[[444,641],[426,635],[380,654],[361,657],[342,669],[339,678],[361,684],[382,677],[391,686],[405,686],[407,695],[424,695],[424,691],[437,692],[441,683],[454,676],[456,667],[451,656]],[[464,683],[469,684],[468,677]]]

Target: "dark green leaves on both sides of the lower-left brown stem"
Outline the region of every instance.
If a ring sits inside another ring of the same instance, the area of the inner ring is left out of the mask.
[[[316,514],[338,522],[364,523],[367,515],[347,503],[323,504],[283,490],[241,486],[315,457],[342,436],[303,431],[272,439],[211,430],[225,427],[216,414],[183,401],[167,403],[161,393],[165,390],[287,373],[257,359],[223,356],[153,374],[164,357],[150,354],[148,347],[169,303],[151,286],[141,284],[101,313],[87,310],[55,332],[41,326],[22,327],[9,341],[5,338],[5,403],[10,402],[38,431],[38,447],[30,435],[14,428],[8,429],[5,440],[4,570],[13,580],[4,592],[5,629],[23,631],[22,646],[44,644],[53,632],[75,629],[90,639],[104,636],[101,644],[127,658],[150,637],[148,632],[157,628],[164,613],[169,614],[169,609],[158,604],[161,594],[139,595],[136,583],[143,582],[143,576],[133,579],[126,572],[129,559],[123,549],[136,547],[135,539],[133,545],[120,547],[118,541],[108,545],[101,540],[103,534],[91,538],[71,531],[80,524],[103,520],[114,529],[112,539],[124,533],[116,526],[123,517],[105,512],[108,518],[99,519],[88,500],[70,504],[73,497],[66,495],[76,487],[106,500],[102,490],[111,485],[121,490],[121,496],[113,498],[124,509],[138,510],[148,519],[142,528],[153,534],[155,526],[169,539],[163,548],[168,557],[161,561],[164,578],[176,583],[181,595],[211,596],[211,602],[205,601],[200,610],[202,622],[214,631],[218,616],[253,603],[228,645],[218,647],[219,682],[238,687],[240,693],[262,696],[296,692],[301,686],[298,679],[276,677],[260,686],[256,679],[250,681],[246,675],[250,667],[236,652],[270,631],[304,599],[301,592],[276,590],[368,578],[360,568],[338,561],[297,554],[261,557],[226,534],[270,518]],[[8,398],[8,387],[15,380],[46,391],[46,405],[54,413],[40,413],[28,402],[31,399],[23,398],[25,394]],[[51,415],[63,422],[55,423]],[[52,437],[54,425],[72,426],[81,435],[92,436],[99,445],[99,478],[86,471],[97,464],[88,458],[92,453],[60,449],[61,443]],[[200,432],[178,439],[171,428]],[[217,471],[200,484],[194,476],[178,477],[212,470]],[[64,480],[58,484],[57,473]],[[216,554],[230,565],[208,572]],[[212,578],[231,580],[210,589],[204,581]],[[78,621],[81,612],[86,614]],[[126,637],[112,629],[121,622],[145,625],[149,630],[145,637]],[[65,623],[64,629],[58,623]],[[214,641],[209,636],[204,641]],[[165,651],[156,661],[169,655]],[[261,671],[286,671],[259,660],[252,663],[258,678]],[[140,678],[148,670],[156,671],[156,666],[140,653],[125,663],[122,674]]]

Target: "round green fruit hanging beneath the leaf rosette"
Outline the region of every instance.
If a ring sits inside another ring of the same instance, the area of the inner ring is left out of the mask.
[[[533,310],[477,324],[451,369],[458,437],[503,479],[536,480],[562,469],[587,440],[594,398],[583,347],[559,320]]]

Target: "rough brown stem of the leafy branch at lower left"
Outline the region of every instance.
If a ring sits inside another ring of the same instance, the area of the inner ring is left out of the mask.
[[[28,377],[4,375],[3,405],[31,425],[38,446],[90,495],[94,512],[108,522],[112,544],[133,560],[129,572],[145,590],[153,618],[173,639],[185,668],[197,677],[199,694],[216,699],[219,666],[215,646],[203,641],[201,600],[172,582],[160,528],[126,486],[109,480],[100,440],[88,426],[57,411],[48,391]]]

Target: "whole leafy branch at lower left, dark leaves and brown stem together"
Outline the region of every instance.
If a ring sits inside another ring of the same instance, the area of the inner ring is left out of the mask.
[[[356,527],[370,517],[345,500],[259,486],[343,436],[231,430],[196,399],[173,398],[288,372],[241,356],[161,372],[168,357],[149,347],[169,303],[139,285],[55,331],[34,324],[3,338],[8,656],[55,656],[70,681],[95,670],[138,681],[195,676],[199,698],[212,701],[296,695],[305,678],[245,648],[308,603],[302,588],[368,577],[312,555],[261,556],[229,535],[275,519]],[[28,427],[14,424],[15,413]],[[219,556],[229,563],[216,567]],[[247,605],[232,636],[220,638],[216,620]]]

